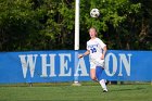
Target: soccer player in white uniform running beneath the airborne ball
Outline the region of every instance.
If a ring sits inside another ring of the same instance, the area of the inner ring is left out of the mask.
[[[103,92],[107,92],[105,79],[101,77],[104,70],[104,56],[106,53],[106,45],[97,37],[97,30],[94,27],[89,29],[90,40],[87,41],[87,51],[84,54],[79,54],[78,58],[83,58],[89,54],[90,62],[90,77],[94,81],[99,81]]]

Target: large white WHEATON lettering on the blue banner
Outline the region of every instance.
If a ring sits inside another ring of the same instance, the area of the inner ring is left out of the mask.
[[[31,78],[36,76],[35,67],[38,66],[41,67],[40,77],[73,76],[74,73],[74,79],[77,79],[78,76],[89,76],[84,58],[77,59],[77,55],[78,53],[75,53],[74,60],[72,53],[21,54],[18,58],[24,78],[27,77],[28,72]],[[126,72],[126,75],[130,76],[131,55],[129,53],[107,53],[105,56],[105,74],[107,76],[123,76]],[[59,67],[55,67],[58,64]]]

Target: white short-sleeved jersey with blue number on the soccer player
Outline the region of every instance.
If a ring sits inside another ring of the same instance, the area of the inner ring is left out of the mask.
[[[90,51],[89,54],[90,62],[94,63],[94,61],[97,62],[101,60],[102,49],[106,45],[99,38],[90,39],[89,41],[87,41],[87,50]]]

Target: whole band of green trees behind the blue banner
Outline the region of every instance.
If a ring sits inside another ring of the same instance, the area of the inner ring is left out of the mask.
[[[152,49],[151,3],[80,0],[80,49],[92,26],[109,49]],[[0,51],[74,49],[74,26],[75,0],[0,0]]]

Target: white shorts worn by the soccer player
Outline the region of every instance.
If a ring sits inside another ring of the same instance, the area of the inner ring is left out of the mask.
[[[96,68],[97,66],[101,66],[104,68],[104,60],[91,60],[90,68]]]

